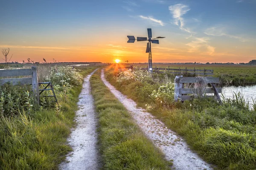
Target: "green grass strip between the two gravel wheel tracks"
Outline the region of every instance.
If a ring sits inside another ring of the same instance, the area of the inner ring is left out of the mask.
[[[100,78],[90,78],[99,113],[99,144],[105,170],[167,170],[171,162],[143,135],[125,107]]]

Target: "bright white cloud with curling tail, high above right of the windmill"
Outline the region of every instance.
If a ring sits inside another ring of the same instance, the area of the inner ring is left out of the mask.
[[[184,28],[185,23],[183,19],[183,15],[189,11],[189,6],[183,5],[181,3],[178,3],[173,6],[169,6],[169,11],[172,14],[172,17],[175,19],[175,25],[179,26],[179,28],[183,31],[186,31],[188,33],[192,33],[189,28]]]

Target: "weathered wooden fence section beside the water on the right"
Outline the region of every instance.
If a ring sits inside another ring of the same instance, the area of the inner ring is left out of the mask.
[[[193,97],[193,94],[195,92],[194,88],[184,88],[185,83],[196,83],[200,80],[200,77],[183,77],[183,76],[176,76],[175,77],[175,95],[174,99],[175,101],[185,101],[188,99],[191,99]],[[204,77],[205,83],[209,83],[211,85],[211,88],[204,88],[202,91],[204,92],[204,96],[202,97],[209,97],[209,98],[215,98],[218,99],[219,102],[221,102],[221,98],[219,96],[219,93],[221,93],[221,88],[215,88],[215,84],[219,83],[218,77]],[[192,95],[191,95],[192,94]],[[214,94],[214,96],[209,96],[207,94]]]

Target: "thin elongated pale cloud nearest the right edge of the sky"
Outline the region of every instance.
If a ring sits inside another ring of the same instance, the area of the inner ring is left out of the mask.
[[[247,39],[245,39],[243,37],[239,37],[239,36],[236,36],[236,35],[230,35],[230,34],[225,33],[225,28],[224,27],[207,28],[204,31],[204,34],[211,35],[211,36],[218,36],[218,37],[226,36],[226,37],[238,39],[241,42],[246,42],[247,41]]]

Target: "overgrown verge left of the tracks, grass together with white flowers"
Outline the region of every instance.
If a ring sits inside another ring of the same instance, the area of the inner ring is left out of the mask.
[[[23,68],[31,65],[23,65]],[[41,81],[51,81],[59,105],[41,98],[34,103],[31,86],[0,86],[0,169],[58,169],[72,150],[67,145],[83,76],[94,67],[73,69],[38,65]],[[80,72],[80,73],[79,73]],[[45,92],[44,92],[45,93]]]

